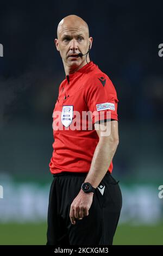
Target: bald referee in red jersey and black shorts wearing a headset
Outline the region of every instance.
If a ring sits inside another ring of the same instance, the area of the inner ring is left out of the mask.
[[[47,245],[112,245],[122,207],[111,175],[118,145],[116,90],[90,61],[93,39],[83,19],[66,16],[57,36],[65,80],[53,111]]]

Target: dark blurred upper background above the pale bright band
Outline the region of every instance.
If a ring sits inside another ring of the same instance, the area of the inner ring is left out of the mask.
[[[117,90],[115,176],[125,182],[162,179],[162,7],[161,1],[1,2],[1,173],[52,179],[52,112],[65,78],[54,38],[60,20],[76,14],[93,37],[90,59]]]

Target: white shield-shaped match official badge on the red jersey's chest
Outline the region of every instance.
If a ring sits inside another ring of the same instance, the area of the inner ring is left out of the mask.
[[[61,122],[65,127],[68,127],[73,118],[73,106],[63,106],[61,113]]]

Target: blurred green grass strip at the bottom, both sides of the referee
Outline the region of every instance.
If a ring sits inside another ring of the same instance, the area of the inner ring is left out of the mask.
[[[0,245],[45,245],[46,223],[0,224]],[[118,225],[114,245],[163,245],[163,223],[157,225]]]

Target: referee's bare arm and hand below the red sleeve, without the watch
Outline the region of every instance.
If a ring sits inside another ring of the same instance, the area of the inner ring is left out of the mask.
[[[119,142],[118,122],[112,120],[102,124],[95,123],[95,129],[99,136],[99,142],[92,158],[89,173],[84,182],[90,182],[96,188],[104,178],[114,157]],[[76,223],[75,218],[82,220],[83,217],[89,215],[92,200],[92,192],[85,193],[82,189],[80,190],[78,196],[71,204],[70,219],[72,224]]]

